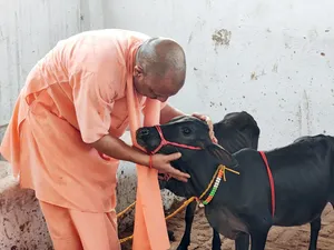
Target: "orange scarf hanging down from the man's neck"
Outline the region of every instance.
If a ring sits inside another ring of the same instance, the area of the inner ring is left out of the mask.
[[[136,130],[140,127],[139,103],[134,90],[132,70],[134,57],[129,54],[129,73],[127,77],[127,106],[131,140],[135,146]],[[144,114],[144,126],[158,124],[160,120],[160,102],[147,99]],[[145,166],[137,164],[137,202],[135,213],[134,250],[167,250],[170,248],[165,221],[161,193],[158,183],[158,172]]]

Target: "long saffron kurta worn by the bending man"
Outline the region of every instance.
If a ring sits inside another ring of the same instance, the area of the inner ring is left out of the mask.
[[[132,60],[148,38],[116,29],[82,32],[59,41],[29,73],[0,150],[21,187],[49,208],[111,212],[116,220],[119,161],[87,143],[125,132],[135,110],[127,106]],[[143,111],[146,98],[134,97],[136,112]]]

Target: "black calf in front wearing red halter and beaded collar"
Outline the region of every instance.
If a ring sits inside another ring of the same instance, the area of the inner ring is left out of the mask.
[[[170,180],[168,188],[174,193],[199,197],[220,164],[239,172],[226,171],[227,181],[222,181],[214,199],[205,206],[210,226],[235,239],[236,249],[248,249],[249,238],[245,234],[249,234],[252,250],[264,250],[272,226],[305,223],[313,228],[310,250],[316,249],[321,214],[327,202],[334,202],[333,137],[303,137],[265,152],[275,182],[276,210],[272,216],[268,173],[258,151],[242,149],[230,154],[210,141],[205,122],[191,117],[176,118],[160,128],[169,141],[202,148],[188,150],[167,144],[160,149],[165,154],[181,152],[181,158],[173,166],[191,177],[187,183]],[[147,151],[153,151],[160,137],[154,127],[141,128],[137,131],[137,140]]]

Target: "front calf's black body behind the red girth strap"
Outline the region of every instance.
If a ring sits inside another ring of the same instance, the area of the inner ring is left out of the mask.
[[[331,138],[304,137],[266,156],[275,183],[275,224],[299,226],[318,217],[333,189]]]

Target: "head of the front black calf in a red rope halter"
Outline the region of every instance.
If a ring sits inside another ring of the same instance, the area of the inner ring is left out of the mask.
[[[169,154],[180,152],[181,158],[173,162],[173,166],[183,172],[190,174],[190,186],[203,190],[204,186],[213,177],[218,164],[234,168],[237,161],[223,147],[213,143],[209,138],[209,128],[205,121],[190,116],[181,116],[159,127],[166,141],[177,143],[164,144],[157,153]],[[139,146],[148,153],[155,152],[161,144],[161,136],[156,127],[144,127],[137,130],[136,139]],[[193,147],[190,149],[188,147]],[[189,190],[187,183],[175,179],[168,181],[173,192],[177,196],[193,196],[195,190]],[[171,183],[170,183],[171,182]],[[181,190],[180,187],[184,186]],[[187,190],[188,189],[188,190]]]

